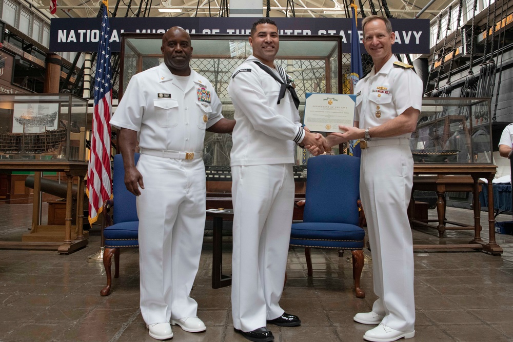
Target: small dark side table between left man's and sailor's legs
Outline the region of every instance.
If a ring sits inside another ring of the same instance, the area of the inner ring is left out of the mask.
[[[231,275],[223,274],[223,218],[233,220],[233,209],[225,209],[222,213],[207,211],[213,218],[212,241],[212,289],[231,285]]]

